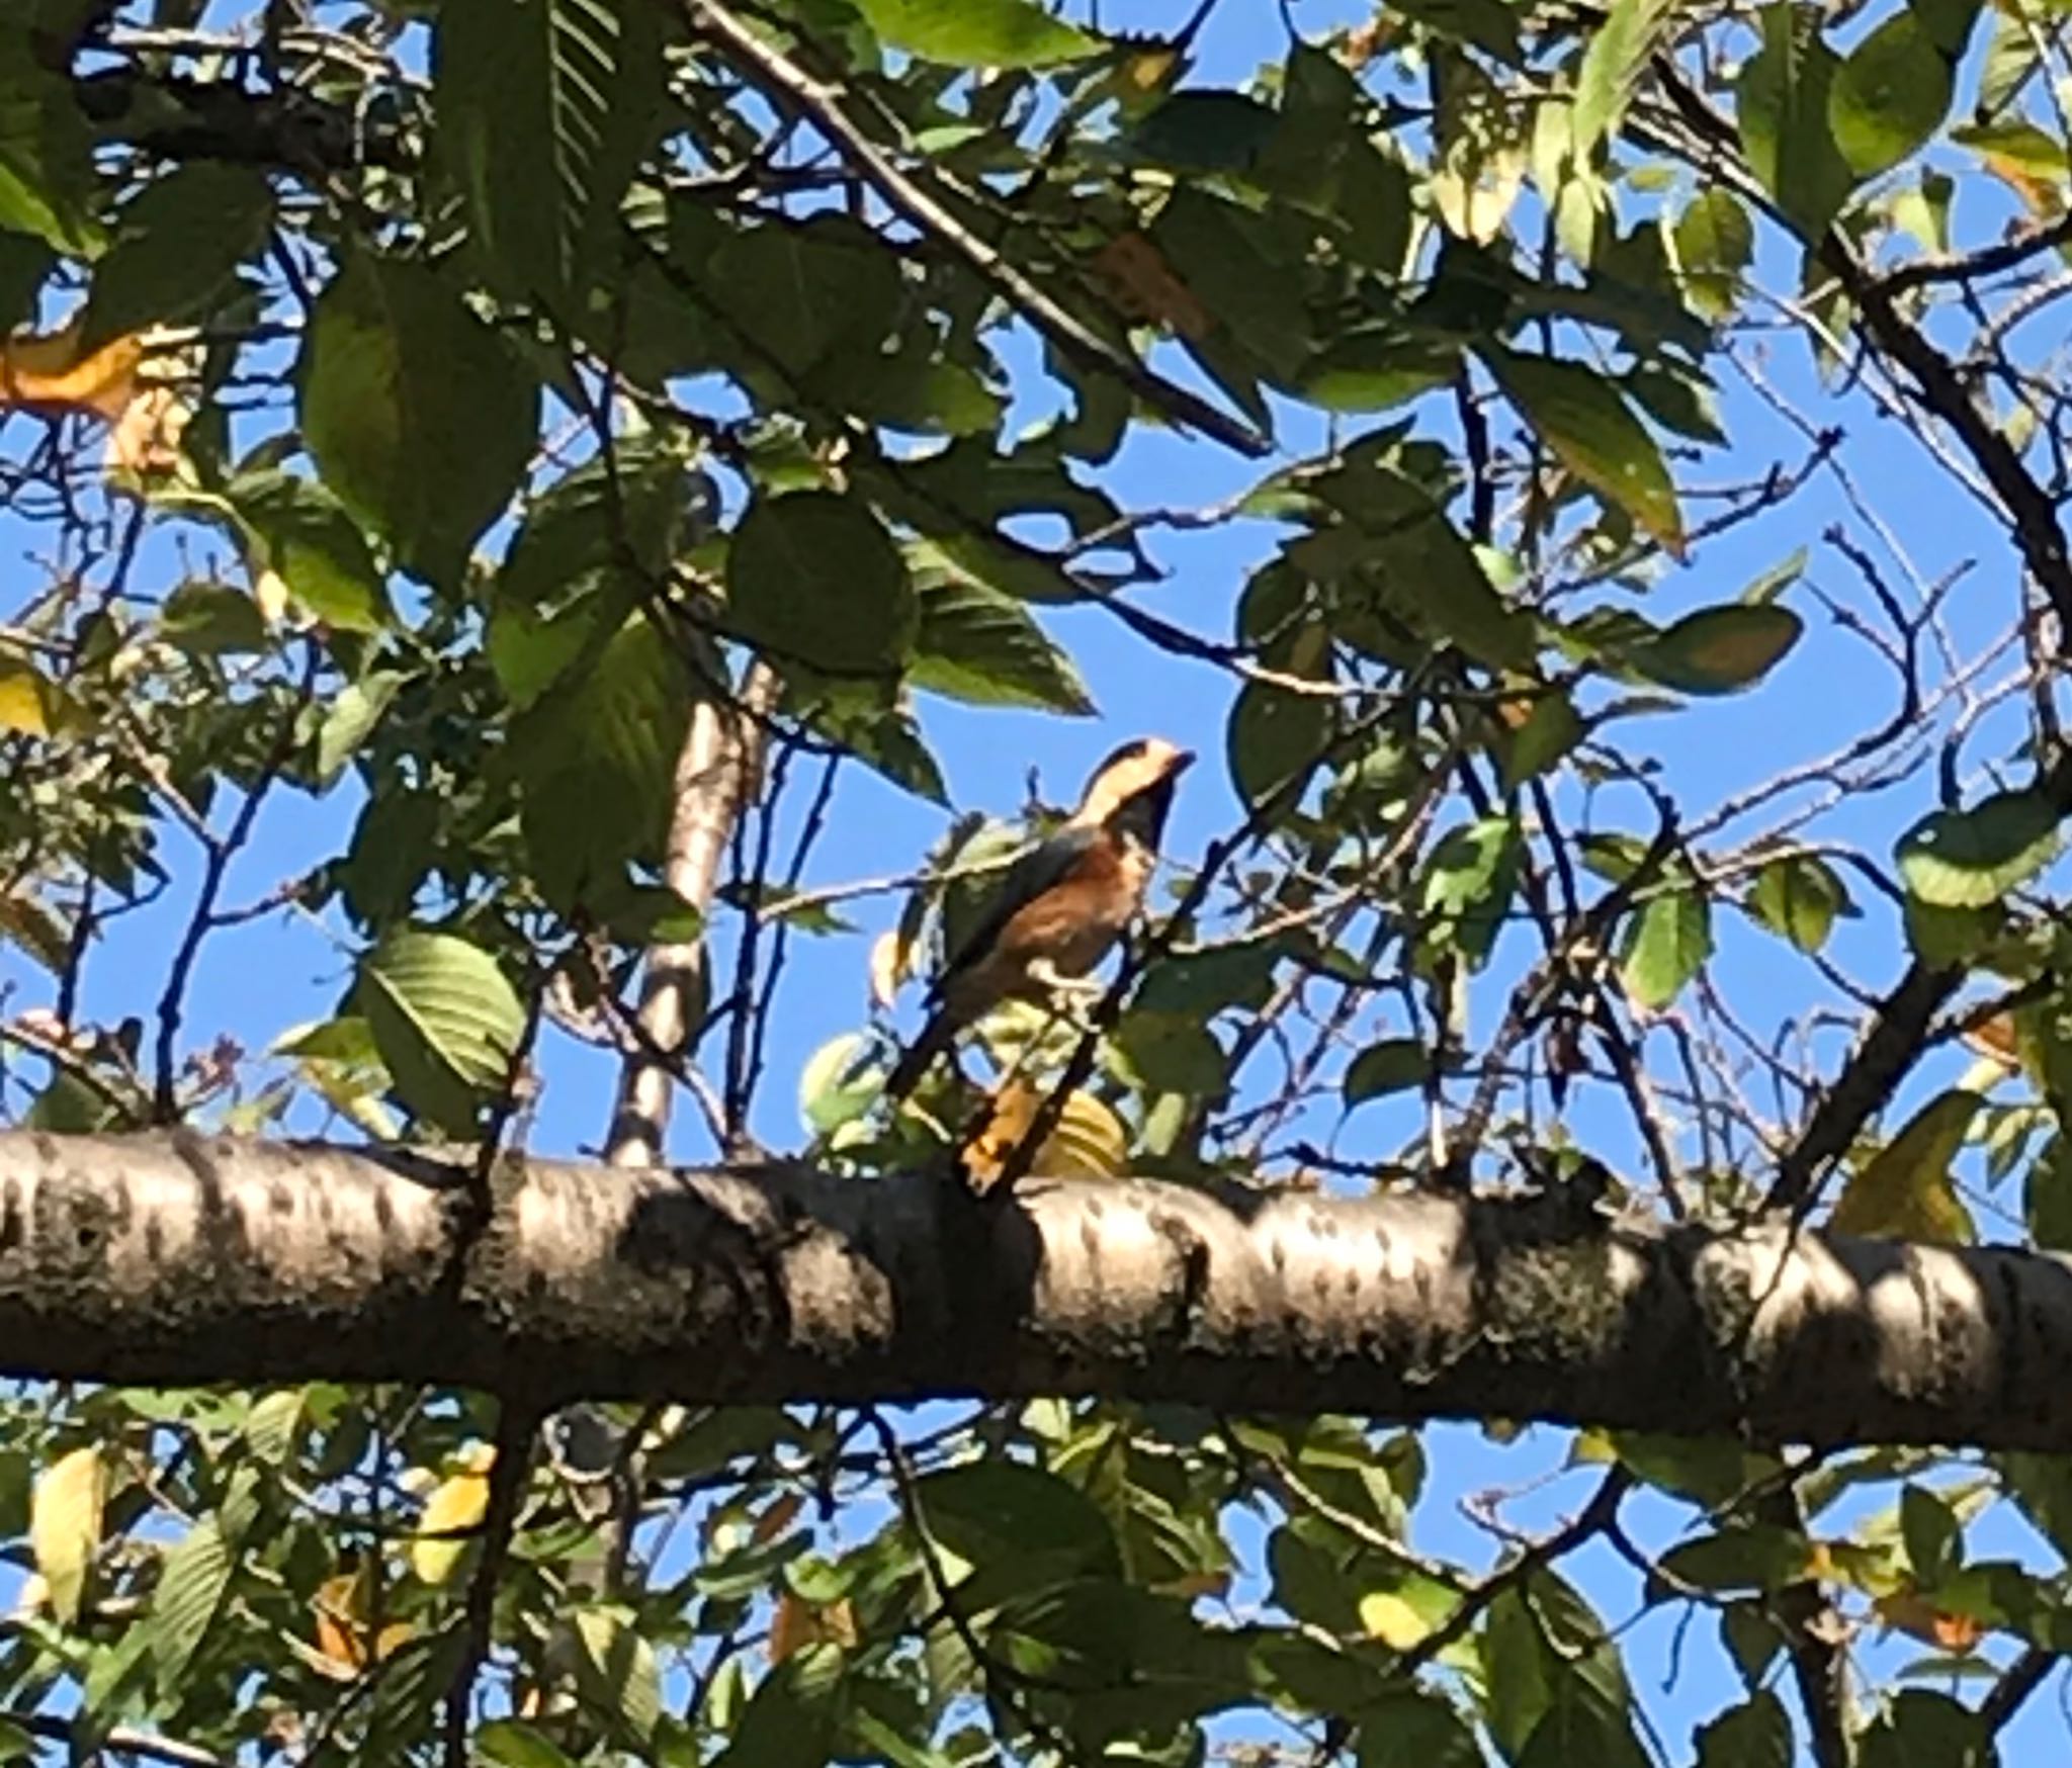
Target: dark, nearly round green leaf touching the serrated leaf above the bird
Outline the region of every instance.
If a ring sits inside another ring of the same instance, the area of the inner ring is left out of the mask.
[[[760,497],[727,549],[727,621],[773,658],[825,675],[891,675],[920,625],[891,536],[852,497]]]

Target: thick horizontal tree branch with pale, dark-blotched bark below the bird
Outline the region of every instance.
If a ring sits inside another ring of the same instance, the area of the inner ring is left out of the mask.
[[[2072,1261],[1581,1197],[1208,1195],[0,1135],[0,1373],[537,1404],[1106,1393],[2072,1449]]]

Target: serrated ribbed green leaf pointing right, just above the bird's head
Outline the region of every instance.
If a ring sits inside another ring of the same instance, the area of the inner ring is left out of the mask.
[[[910,557],[920,627],[908,681],[972,706],[1032,706],[1073,718],[1094,710],[1080,671],[1024,602],[957,569],[928,542]]]

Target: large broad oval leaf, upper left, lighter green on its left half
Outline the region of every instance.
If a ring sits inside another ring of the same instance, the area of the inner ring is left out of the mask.
[[[317,296],[303,437],[398,561],[454,584],[533,458],[539,385],[443,277],[356,253]]]

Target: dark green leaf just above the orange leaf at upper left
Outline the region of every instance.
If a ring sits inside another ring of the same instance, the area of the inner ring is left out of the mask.
[[[197,161],[153,178],[122,207],[116,240],[93,265],[81,348],[203,317],[271,222],[274,188],[253,166]]]

